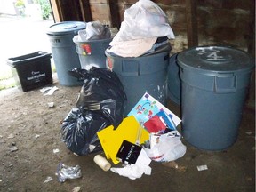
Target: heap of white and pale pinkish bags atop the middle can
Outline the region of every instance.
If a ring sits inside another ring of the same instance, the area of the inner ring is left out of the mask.
[[[163,10],[152,1],[139,0],[125,10],[124,21],[107,52],[121,57],[139,57],[155,52],[168,44],[168,39],[174,38]]]

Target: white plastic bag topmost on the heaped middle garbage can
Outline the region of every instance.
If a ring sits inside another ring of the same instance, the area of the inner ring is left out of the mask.
[[[160,36],[175,38],[166,14],[154,2],[139,0],[125,10],[124,21],[112,42]]]

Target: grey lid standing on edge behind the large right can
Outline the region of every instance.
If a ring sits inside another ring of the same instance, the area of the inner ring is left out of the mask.
[[[180,105],[181,97],[181,81],[179,75],[179,66],[177,63],[178,53],[173,54],[169,60],[168,66],[168,98],[174,103]]]

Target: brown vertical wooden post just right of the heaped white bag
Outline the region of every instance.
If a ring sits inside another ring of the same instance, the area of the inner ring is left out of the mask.
[[[196,8],[196,0],[186,0],[188,47],[198,46]]]

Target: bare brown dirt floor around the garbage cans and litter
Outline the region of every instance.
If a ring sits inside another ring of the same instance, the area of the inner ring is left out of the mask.
[[[96,154],[75,156],[60,135],[60,121],[75,107],[81,87],[65,87],[44,96],[39,89],[17,88],[0,92],[0,191],[255,191],[255,111],[244,108],[236,143],[225,151],[204,151],[190,146],[176,164],[152,162],[151,175],[130,180],[104,172],[93,162]],[[48,103],[54,102],[49,108]],[[170,109],[180,116],[177,105]],[[180,128],[179,128],[180,129]],[[59,149],[56,152],[55,149]],[[99,152],[104,156],[103,152]],[[58,164],[79,165],[82,178],[60,183]],[[113,164],[112,164],[113,165]],[[207,165],[199,172],[198,165]],[[51,177],[52,180],[47,181]]]

